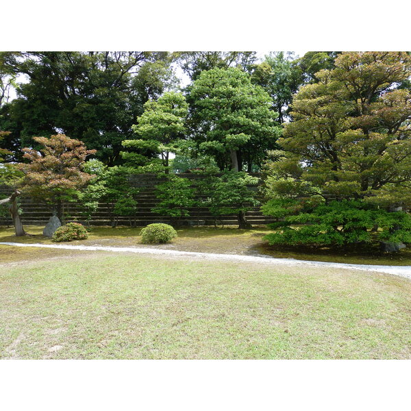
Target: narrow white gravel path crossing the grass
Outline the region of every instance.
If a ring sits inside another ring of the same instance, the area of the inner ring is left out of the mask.
[[[0,242],[0,245],[12,245],[14,247],[42,247],[42,248],[55,248],[66,250],[79,250],[79,251],[114,251],[114,252],[127,252],[127,253],[141,253],[141,254],[159,254],[169,256],[179,256],[182,258],[201,258],[203,260],[221,260],[221,261],[234,261],[234,262],[262,262],[265,264],[275,265],[310,265],[310,266],[323,266],[334,269],[355,269],[363,271],[373,271],[378,273],[387,273],[400,275],[411,279],[411,266],[382,266],[382,265],[369,265],[369,264],[344,264],[340,262],[321,262],[321,261],[306,261],[295,260],[294,258],[273,258],[273,257],[258,257],[258,256],[244,256],[239,254],[216,254],[216,253],[195,253],[192,251],[175,251],[165,249],[154,248],[142,248],[142,247],[103,247],[98,245],[57,245],[57,244],[23,244],[21,242]]]

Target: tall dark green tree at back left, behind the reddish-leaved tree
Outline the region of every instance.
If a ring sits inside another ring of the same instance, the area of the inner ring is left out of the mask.
[[[142,51],[0,53],[0,73],[28,79],[3,106],[0,126],[22,146],[64,132],[119,164],[142,105],[173,84],[170,64],[168,53]]]

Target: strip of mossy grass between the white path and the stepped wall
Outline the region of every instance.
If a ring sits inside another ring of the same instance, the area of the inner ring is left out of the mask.
[[[26,227],[32,236],[16,237],[12,228],[0,227],[0,242],[41,242],[53,244],[51,239],[42,236],[42,228],[38,226]],[[73,241],[73,244],[83,245],[114,245],[158,247],[164,249],[177,249],[182,251],[200,251],[205,253],[229,254],[264,254],[277,258],[295,258],[297,260],[312,260],[325,262],[345,262],[349,264],[381,264],[411,266],[411,247],[399,253],[383,253],[377,248],[364,248],[356,245],[345,249],[329,249],[327,247],[279,247],[270,246],[262,237],[271,229],[254,227],[253,229],[237,229],[232,227],[189,227],[177,229],[178,238],[170,245],[142,245],[140,244],[141,228],[130,227],[92,227],[88,240]],[[21,251],[26,253],[27,251]],[[19,253],[19,251],[18,251]],[[2,260],[0,246],[0,261]],[[10,256],[3,257],[10,260]],[[18,258],[18,256],[16,256]]]

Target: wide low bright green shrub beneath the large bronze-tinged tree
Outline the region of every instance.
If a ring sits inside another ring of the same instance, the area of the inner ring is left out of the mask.
[[[411,216],[388,212],[364,201],[312,205],[298,199],[273,199],[264,214],[284,218],[271,224],[269,244],[343,246],[373,240],[411,242]]]

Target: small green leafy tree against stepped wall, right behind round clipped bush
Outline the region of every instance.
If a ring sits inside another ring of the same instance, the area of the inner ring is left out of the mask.
[[[155,188],[155,196],[160,199],[151,211],[172,219],[188,216],[188,208],[194,206],[194,189],[187,178],[170,175],[166,182]]]

